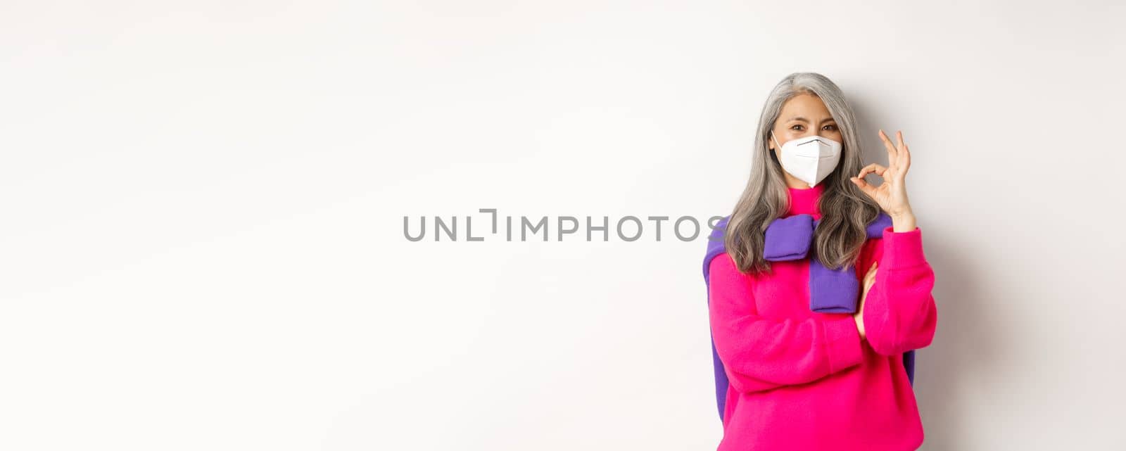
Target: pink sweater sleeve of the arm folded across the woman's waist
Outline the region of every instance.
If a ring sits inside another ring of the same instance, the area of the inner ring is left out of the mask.
[[[852,315],[805,319],[759,316],[751,278],[731,255],[709,263],[708,314],[716,353],[741,393],[806,384],[860,363],[860,333]]]

